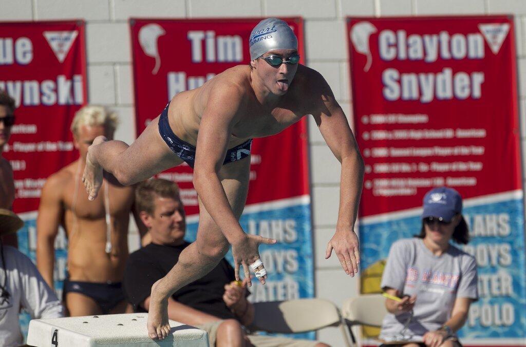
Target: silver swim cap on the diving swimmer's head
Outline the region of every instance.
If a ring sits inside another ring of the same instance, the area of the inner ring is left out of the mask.
[[[267,18],[252,29],[248,45],[254,60],[272,49],[298,49],[298,39],[284,20]]]

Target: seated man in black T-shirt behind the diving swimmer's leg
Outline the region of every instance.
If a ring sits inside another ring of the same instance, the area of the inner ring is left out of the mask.
[[[185,211],[174,182],[149,180],[135,192],[137,212],[148,228],[151,244],[130,254],[124,271],[124,292],[136,312],[149,308],[151,286],[177,263],[190,243]],[[168,318],[208,332],[210,346],[327,346],[324,343],[245,335],[242,325],[254,319],[246,299],[246,281],[235,282],[234,268],[222,259],[206,276],[179,289],[168,299]]]

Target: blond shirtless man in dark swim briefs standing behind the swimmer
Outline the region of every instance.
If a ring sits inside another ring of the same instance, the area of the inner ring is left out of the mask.
[[[54,288],[54,243],[62,225],[68,237],[63,299],[70,316],[124,313],[126,309],[120,281],[128,258],[134,187],[124,187],[108,175],[108,180],[102,182],[102,194],[88,201],[81,182],[89,145],[97,136],[113,138],[116,125],[116,114],[103,107],[80,109],[71,125],[80,157],[49,176],[42,190],[37,218],[37,267]]]

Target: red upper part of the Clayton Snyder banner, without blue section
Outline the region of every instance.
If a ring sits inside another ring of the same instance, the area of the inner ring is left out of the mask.
[[[513,20],[349,18],[361,215],[522,187]],[[393,203],[395,202],[396,203]]]

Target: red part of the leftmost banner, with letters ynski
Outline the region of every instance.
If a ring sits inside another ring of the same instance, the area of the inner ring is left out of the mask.
[[[16,102],[4,148],[14,211],[36,211],[46,178],[76,155],[69,126],[86,102],[84,22],[0,23],[0,89]]]

